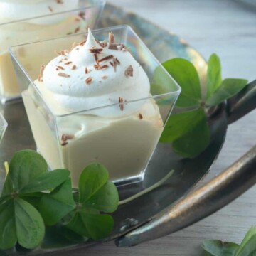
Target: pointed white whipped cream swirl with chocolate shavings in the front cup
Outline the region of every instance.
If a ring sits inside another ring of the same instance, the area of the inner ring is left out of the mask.
[[[114,49],[113,49],[114,48]],[[119,117],[139,110],[149,97],[149,78],[121,44],[96,41],[89,30],[87,41],[62,52],[43,71],[43,90],[68,112]],[[112,107],[97,107],[113,105]]]

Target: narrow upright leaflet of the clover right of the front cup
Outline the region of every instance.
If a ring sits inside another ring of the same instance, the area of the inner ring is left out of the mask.
[[[213,53],[210,55],[208,60],[208,68],[207,68],[207,99],[210,95],[217,90],[220,86],[222,81],[221,78],[221,65],[220,65],[220,58],[218,55]]]

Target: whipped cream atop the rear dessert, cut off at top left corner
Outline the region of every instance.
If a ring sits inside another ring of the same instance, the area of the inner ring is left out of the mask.
[[[79,0],[0,0],[0,23],[25,18],[56,14],[78,8]],[[61,21],[63,16],[46,19],[38,18],[29,23],[43,24]]]

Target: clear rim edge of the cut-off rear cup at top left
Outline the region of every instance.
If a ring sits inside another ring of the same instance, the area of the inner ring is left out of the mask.
[[[22,18],[22,19],[18,19],[15,21],[0,23],[0,26],[5,26],[5,25],[13,24],[13,23],[18,23],[18,22],[31,21],[31,20],[37,19],[37,18],[38,19],[39,18],[47,18],[47,17],[56,16],[56,15],[60,15],[60,14],[68,14],[73,11],[82,11],[85,9],[92,9],[92,8],[95,8],[95,6],[105,6],[105,4],[107,2],[107,0],[92,0],[92,1],[93,1],[93,4],[90,6],[84,6],[84,7],[80,7],[80,8],[76,8],[76,9],[70,9],[68,11],[58,11],[58,12],[55,12],[54,14],[46,14],[46,15],[34,16],[34,17],[30,17],[30,18]]]

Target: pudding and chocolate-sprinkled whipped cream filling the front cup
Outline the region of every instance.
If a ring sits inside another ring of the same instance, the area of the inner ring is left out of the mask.
[[[112,181],[139,176],[163,130],[142,66],[112,33],[97,41],[89,30],[58,54],[22,93],[38,151],[50,169],[70,169],[74,187],[94,161]]]

